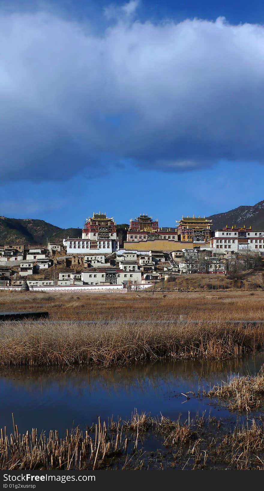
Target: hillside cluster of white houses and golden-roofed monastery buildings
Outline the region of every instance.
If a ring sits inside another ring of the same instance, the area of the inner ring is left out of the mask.
[[[264,255],[264,232],[232,225],[213,231],[212,220],[182,217],[175,227],[158,219],[130,219],[122,247],[114,218],[93,214],[82,237],[44,246],[0,246],[0,286],[113,286],[136,288],[179,274],[227,274],[234,261]],[[249,262],[248,262],[249,260]]]

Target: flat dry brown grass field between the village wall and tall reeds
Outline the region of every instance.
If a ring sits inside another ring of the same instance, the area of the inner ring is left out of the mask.
[[[252,295],[253,293],[253,295]],[[52,320],[257,319],[264,320],[264,292],[151,292],[129,294],[0,291],[1,311],[48,310]],[[223,315],[224,314],[224,315]],[[214,317],[213,317],[214,316]]]

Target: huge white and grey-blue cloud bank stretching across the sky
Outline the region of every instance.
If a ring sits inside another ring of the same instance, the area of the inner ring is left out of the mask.
[[[50,13],[0,15],[2,182],[99,176],[120,159],[264,162],[264,27],[154,25],[137,7],[100,36]]]

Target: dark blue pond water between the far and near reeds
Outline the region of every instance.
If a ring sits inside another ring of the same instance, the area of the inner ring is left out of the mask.
[[[12,432],[12,417],[19,431],[37,428],[39,432],[66,428],[81,429],[108,420],[129,419],[134,408],[151,416],[161,413],[171,419],[200,415],[206,411],[217,418],[237,421],[237,415],[212,400],[197,397],[214,384],[227,381],[231,374],[255,375],[264,364],[264,354],[224,362],[159,362],[120,370],[91,368],[61,370],[5,369],[0,371],[0,427]],[[182,393],[192,391],[190,399]]]

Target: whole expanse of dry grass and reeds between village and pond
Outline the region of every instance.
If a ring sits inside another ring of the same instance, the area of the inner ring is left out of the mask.
[[[222,360],[264,349],[264,327],[228,323],[264,320],[264,292],[172,293],[165,298],[146,292],[1,292],[0,305],[3,311],[50,314],[48,321],[1,324],[0,366],[110,367],[163,358]],[[82,322],[91,320],[95,322]]]

